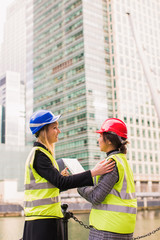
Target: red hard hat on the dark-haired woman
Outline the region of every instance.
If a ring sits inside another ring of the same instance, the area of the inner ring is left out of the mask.
[[[108,118],[104,121],[101,129],[96,131],[97,133],[114,132],[118,136],[127,138],[126,124],[118,118]]]

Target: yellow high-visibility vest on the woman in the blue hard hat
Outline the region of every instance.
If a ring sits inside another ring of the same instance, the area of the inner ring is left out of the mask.
[[[58,164],[53,156],[42,147],[33,147],[25,166],[24,212],[26,220],[62,218],[59,189],[42,178],[33,168],[36,150],[46,154],[53,166]]]

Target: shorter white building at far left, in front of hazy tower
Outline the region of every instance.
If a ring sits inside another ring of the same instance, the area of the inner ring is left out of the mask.
[[[8,71],[0,78],[0,143],[25,145],[24,91],[19,73]]]

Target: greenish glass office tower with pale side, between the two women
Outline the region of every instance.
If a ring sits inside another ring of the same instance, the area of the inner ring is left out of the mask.
[[[56,158],[89,167],[100,159],[95,131],[108,104],[103,9],[87,4],[34,1],[34,110],[62,114]]]

